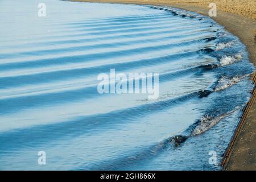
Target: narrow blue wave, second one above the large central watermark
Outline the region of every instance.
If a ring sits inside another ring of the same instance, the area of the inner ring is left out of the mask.
[[[177,31],[177,30],[176,30]],[[198,42],[199,40],[192,40],[192,42],[195,43]],[[189,41],[188,41],[189,42]],[[184,43],[176,43],[175,45],[178,47],[182,46],[188,46],[188,42]],[[127,48],[126,48],[127,47]],[[114,58],[114,57],[123,57],[131,54],[138,54],[138,53],[146,53],[148,51],[158,51],[158,49],[164,50],[168,49],[171,47],[174,47],[174,44],[169,42],[166,43],[158,43],[158,45],[148,45],[148,46],[143,46],[140,45],[138,47],[131,47],[131,46],[126,46],[122,48],[105,48],[104,50],[97,49],[97,51],[91,49],[88,52],[84,51],[79,51],[73,53],[71,56],[68,53],[63,53],[61,56],[56,56],[56,55],[51,55],[51,56],[44,56],[41,59],[15,59],[15,60],[8,60],[0,64],[1,69],[9,68],[13,65],[13,67],[36,67],[36,66],[43,66],[43,65],[49,65],[49,64],[67,64],[67,63],[77,63],[80,61],[94,61],[97,59],[105,59],[105,57],[109,58]],[[65,61],[64,61],[65,59]]]

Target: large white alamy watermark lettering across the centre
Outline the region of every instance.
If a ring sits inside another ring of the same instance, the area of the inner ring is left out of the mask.
[[[156,100],[159,97],[159,73],[115,73],[110,69],[110,75],[100,73],[97,80],[101,81],[98,93],[111,94],[148,94],[148,100]]]

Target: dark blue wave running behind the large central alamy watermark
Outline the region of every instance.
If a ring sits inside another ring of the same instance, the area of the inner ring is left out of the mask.
[[[201,67],[193,67],[188,69],[182,69],[180,71],[175,72],[166,72],[159,75],[159,83],[166,82],[170,80],[174,80],[183,76],[188,76],[188,74],[196,73],[200,71]],[[138,79],[138,77],[136,78]],[[68,85],[67,85],[68,86]],[[5,110],[1,110],[2,113],[12,113],[17,109],[22,108],[30,108],[39,106],[42,104],[52,105],[58,103],[65,103],[72,101],[77,101],[81,98],[83,100],[92,99],[95,97],[104,97],[106,94],[98,94],[97,91],[97,82],[89,85],[71,85],[65,87],[65,85],[61,88],[55,88],[54,86],[51,88],[41,88],[39,90],[35,90],[34,92],[26,92],[26,87],[24,88],[25,92],[21,92],[18,90],[18,93],[12,93],[9,96],[4,96],[0,100],[1,105],[5,105]],[[72,97],[71,97],[72,96]],[[30,100],[30,102],[24,102],[26,100]],[[19,107],[17,106],[19,103],[24,102]]]

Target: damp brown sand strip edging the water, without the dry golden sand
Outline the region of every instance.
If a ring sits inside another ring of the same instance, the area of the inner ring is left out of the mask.
[[[193,11],[204,16],[208,16],[208,6],[197,6],[193,3],[172,3],[159,2],[156,0],[133,1],[133,0],[69,0],[73,2],[97,2],[97,3],[122,3],[122,4],[138,4],[138,5],[156,5],[156,6],[172,6],[183,10]],[[182,2],[182,1],[181,1]],[[228,13],[218,10],[217,16],[210,17],[226,31],[237,36],[249,53],[249,60],[256,66],[256,21],[253,18],[247,18],[244,15]],[[252,76],[254,85],[256,84],[256,76]],[[230,140],[228,148],[222,159],[223,170],[256,170],[256,105],[255,105],[255,87],[251,92],[250,101],[243,109],[243,115],[238,123],[237,129]]]

